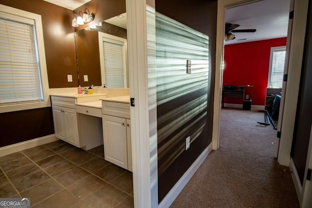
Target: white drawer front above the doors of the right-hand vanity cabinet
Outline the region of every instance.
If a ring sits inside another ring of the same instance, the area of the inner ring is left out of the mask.
[[[103,101],[102,113],[104,115],[130,119],[130,104]]]

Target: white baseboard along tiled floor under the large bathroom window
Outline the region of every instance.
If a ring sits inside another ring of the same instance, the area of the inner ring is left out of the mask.
[[[13,145],[3,146],[3,147],[0,147],[0,157],[4,156],[4,155],[15,153],[15,152],[19,152],[19,151],[22,151],[25,149],[29,149],[29,148],[32,148],[35,146],[44,145],[44,144],[54,142],[57,140],[59,140],[59,139],[55,137],[55,134],[51,134],[48,136],[28,140],[25,142],[20,142],[20,143],[13,144]]]

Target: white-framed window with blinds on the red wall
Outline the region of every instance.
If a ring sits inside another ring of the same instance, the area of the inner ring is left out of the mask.
[[[286,46],[271,48],[268,87],[282,88],[285,56],[286,56]]]

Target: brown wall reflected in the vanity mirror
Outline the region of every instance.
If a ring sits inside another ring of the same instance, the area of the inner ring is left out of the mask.
[[[127,30],[107,22],[102,22],[97,30],[79,30],[75,32],[79,84],[101,86],[101,68],[99,60],[98,31],[127,39]],[[88,75],[84,82],[83,75]]]

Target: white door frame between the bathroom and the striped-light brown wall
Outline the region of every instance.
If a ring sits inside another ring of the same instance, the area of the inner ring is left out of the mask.
[[[152,199],[158,194],[151,192],[150,169],[157,160],[151,162],[149,122],[157,120],[149,120],[146,0],[126,0],[126,11],[130,97],[135,99],[135,107],[130,109],[134,205],[154,208],[158,200],[155,204]]]

